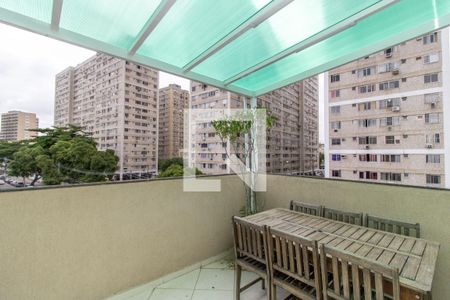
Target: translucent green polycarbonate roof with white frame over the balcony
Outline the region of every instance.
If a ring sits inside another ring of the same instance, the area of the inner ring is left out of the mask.
[[[0,21],[258,96],[448,26],[450,0],[0,0]]]

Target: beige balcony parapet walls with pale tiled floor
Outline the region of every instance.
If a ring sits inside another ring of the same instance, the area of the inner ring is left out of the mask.
[[[1,298],[174,300],[164,293],[180,288],[190,291],[180,299],[232,299],[223,259],[244,189],[236,176],[208,178],[222,191],[183,192],[171,179],[0,193]],[[434,299],[450,298],[449,191],[270,175],[257,197],[265,209],[301,199],[419,222],[423,238],[441,244]],[[261,297],[260,285],[243,294]]]

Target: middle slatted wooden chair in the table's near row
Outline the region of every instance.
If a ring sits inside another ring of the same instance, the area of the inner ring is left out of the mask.
[[[322,299],[317,241],[268,227],[267,243],[271,299],[277,286],[291,297]]]

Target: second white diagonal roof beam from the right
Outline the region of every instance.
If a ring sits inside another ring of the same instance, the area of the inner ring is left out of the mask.
[[[206,51],[200,54],[197,58],[189,62],[187,65],[183,67],[184,72],[189,72],[203,61],[208,59],[211,55],[218,52],[220,49],[233,42],[235,39],[240,37],[242,34],[247,32],[248,30],[257,27],[259,24],[273,16],[282,8],[286,7],[289,3],[294,0],[273,0],[262,9],[260,9],[257,13],[255,13],[251,18],[247,21],[236,27],[233,31],[228,33],[225,37],[223,37],[220,41],[209,47]]]

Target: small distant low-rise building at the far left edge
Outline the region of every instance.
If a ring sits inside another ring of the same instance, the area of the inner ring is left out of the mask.
[[[9,111],[2,114],[0,140],[22,141],[37,137],[37,132],[30,129],[39,128],[39,119],[35,113]]]

